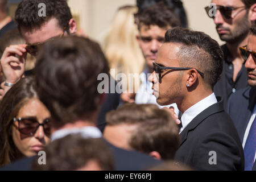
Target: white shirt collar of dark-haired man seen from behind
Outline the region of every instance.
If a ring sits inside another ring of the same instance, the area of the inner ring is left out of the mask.
[[[55,131],[51,136],[51,141],[63,138],[69,134],[81,134],[84,138],[101,138],[101,131],[94,126],[86,126],[82,128],[73,128],[73,129],[61,129]]]

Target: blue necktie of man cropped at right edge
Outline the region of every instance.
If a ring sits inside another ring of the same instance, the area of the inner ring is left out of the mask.
[[[253,124],[251,125],[249,135],[246,139],[245,148],[245,171],[251,171],[254,164],[256,150],[256,117],[254,118]]]

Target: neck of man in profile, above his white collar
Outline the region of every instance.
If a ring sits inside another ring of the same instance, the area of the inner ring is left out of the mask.
[[[187,96],[183,98],[180,104],[177,103],[178,109],[181,113],[184,113],[189,107],[195,105],[197,102],[207,98],[213,93],[212,90],[205,91],[205,90],[193,90],[192,92],[188,92]]]

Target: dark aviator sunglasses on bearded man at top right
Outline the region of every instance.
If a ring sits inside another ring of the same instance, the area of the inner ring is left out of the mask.
[[[217,10],[220,11],[220,13],[222,14],[222,16],[224,16],[225,19],[231,19],[232,18],[232,11],[233,10],[237,10],[237,9],[240,9],[240,8],[244,8],[242,10],[245,10],[246,9],[246,6],[241,6],[241,7],[229,7],[229,6],[220,6],[220,5],[217,5]],[[210,17],[210,18],[214,18],[214,16],[210,15],[210,10],[212,10],[212,7],[205,7],[204,8],[205,11],[207,12],[207,15]],[[242,10],[238,11],[238,13],[240,13]],[[238,14],[237,13],[237,14]],[[234,18],[234,17],[233,17]]]

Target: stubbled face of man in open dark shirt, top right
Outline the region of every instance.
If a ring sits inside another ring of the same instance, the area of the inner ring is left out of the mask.
[[[241,0],[212,0],[217,6],[241,7],[232,11],[232,18],[226,19],[219,10],[216,11],[214,23],[220,39],[226,42],[237,42],[246,39],[251,26],[245,6]]]

